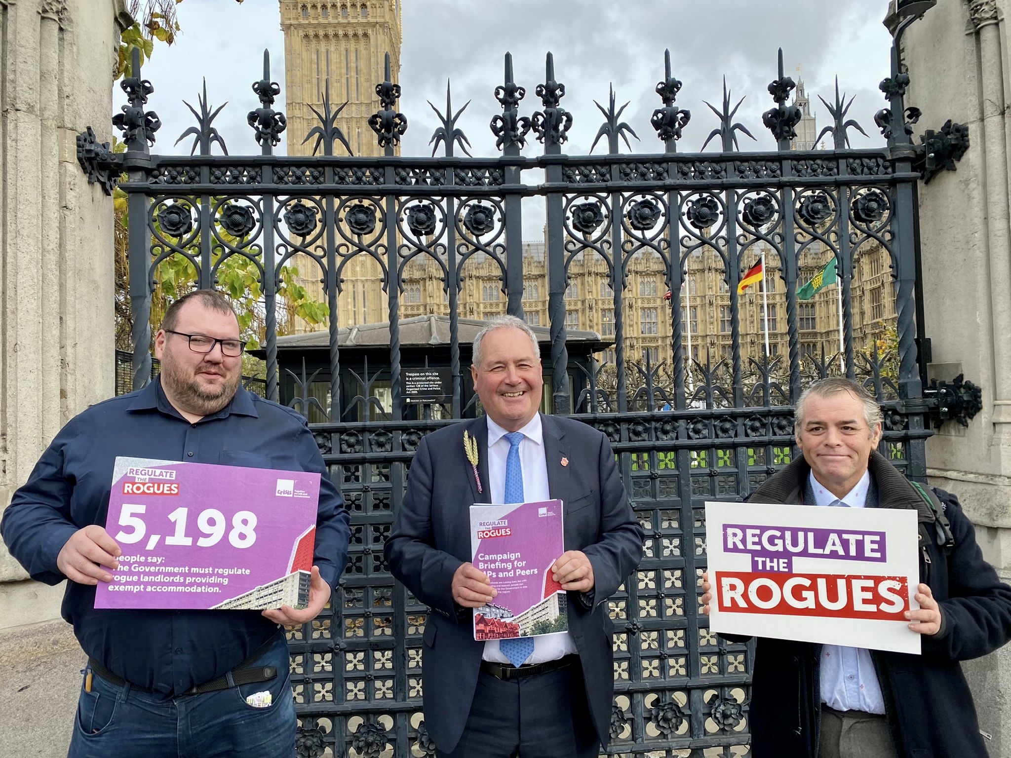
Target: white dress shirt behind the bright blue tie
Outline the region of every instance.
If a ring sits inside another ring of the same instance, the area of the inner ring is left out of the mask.
[[[488,419],[488,487],[491,502],[500,503],[505,499],[505,458],[509,456],[509,440],[503,439],[505,430]],[[544,456],[544,435],[541,431],[541,414],[537,413],[530,422],[519,432],[523,433],[520,442],[520,466],[523,468],[523,499],[526,502],[548,500],[548,463]],[[557,557],[557,556],[556,556]],[[575,653],[575,641],[568,632],[558,632],[553,635],[540,635],[534,638],[534,652],[526,663],[544,663],[554,661],[569,653]],[[498,649],[498,640],[487,640],[484,643],[485,661],[494,663],[510,663],[509,658]]]

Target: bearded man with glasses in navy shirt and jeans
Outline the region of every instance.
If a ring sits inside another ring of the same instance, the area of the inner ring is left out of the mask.
[[[330,600],[350,519],[305,419],[240,386],[243,348],[222,295],[180,298],[155,340],[161,376],[71,419],[4,512],[0,534],[31,577],[68,580],[63,617],[89,657],[71,758],[294,754],[281,626]],[[95,609],[95,585],[121,555],[102,527],[116,456],[321,474],[308,606]]]

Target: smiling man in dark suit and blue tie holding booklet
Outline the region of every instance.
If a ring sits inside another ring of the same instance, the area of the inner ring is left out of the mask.
[[[441,756],[595,757],[614,695],[607,600],[638,566],[642,530],[604,435],[538,412],[541,361],[523,320],[485,324],[471,375],[486,415],[423,440],[386,542],[390,571],[434,611],[424,635],[426,725]],[[465,434],[477,442],[476,475]],[[470,563],[469,507],[516,501],[504,499],[517,491],[514,466],[520,500],[564,503],[565,552],[552,570],[569,623],[568,632],[524,639],[519,655],[497,640],[475,642],[471,626],[471,608],[495,590]]]

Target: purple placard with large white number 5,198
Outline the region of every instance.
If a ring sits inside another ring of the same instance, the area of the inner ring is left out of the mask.
[[[304,597],[319,474],[117,458],[105,530],[122,550],[96,608],[265,608]]]

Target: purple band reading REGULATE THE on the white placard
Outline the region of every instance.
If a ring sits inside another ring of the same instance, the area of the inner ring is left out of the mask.
[[[861,530],[726,524],[723,550],[750,554],[754,571],[793,571],[794,558],[871,563],[888,560],[885,533]]]

